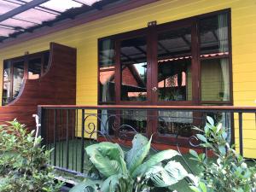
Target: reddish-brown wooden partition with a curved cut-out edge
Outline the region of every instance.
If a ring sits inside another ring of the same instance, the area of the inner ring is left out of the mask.
[[[76,104],[76,49],[50,43],[49,67],[40,79],[26,79],[14,102],[0,107],[0,124],[18,119],[35,127],[38,105]]]

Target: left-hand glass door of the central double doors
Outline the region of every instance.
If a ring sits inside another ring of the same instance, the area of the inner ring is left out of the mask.
[[[122,105],[148,105],[150,81],[148,67],[148,38],[144,31],[119,38],[119,61],[117,61],[119,82],[118,103]],[[120,111],[120,125],[125,132],[140,132],[148,135],[148,113],[146,110]],[[133,130],[134,129],[134,130]],[[123,131],[123,130],[121,130]],[[132,136],[133,134],[131,134]]]

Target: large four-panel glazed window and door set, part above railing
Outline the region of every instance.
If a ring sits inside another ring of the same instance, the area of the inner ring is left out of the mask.
[[[102,38],[99,103],[232,104],[230,61],[228,9]]]

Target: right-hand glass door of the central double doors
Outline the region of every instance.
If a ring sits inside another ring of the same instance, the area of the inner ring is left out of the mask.
[[[154,105],[192,104],[192,26],[169,26],[156,32],[156,59],[152,73]],[[175,143],[177,133],[184,141],[191,134],[193,113],[154,113],[154,140]]]

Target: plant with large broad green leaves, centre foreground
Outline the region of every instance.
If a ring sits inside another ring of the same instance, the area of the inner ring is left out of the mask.
[[[166,188],[191,177],[180,163],[170,160],[179,155],[177,151],[168,149],[149,157],[150,146],[151,138],[148,141],[141,134],[133,138],[127,153],[116,143],[90,145],[85,150],[93,164],[94,179],[86,178],[71,192],[141,192]]]

